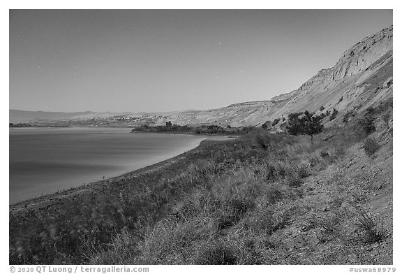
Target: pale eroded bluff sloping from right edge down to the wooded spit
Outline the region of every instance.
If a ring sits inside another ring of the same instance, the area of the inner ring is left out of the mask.
[[[340,113],[352,109],[363,112],[373,103],[392,97],[392,31],[391,26],[364,38],[346,50],[334,67],[318,71],[295,91],[268,101],[237,103],[216,110],[160,114],[154,122],[239,127],[260,125],[303,110],[321,113],[336,108]],[[320,110],[322,107],[325,109]]]

